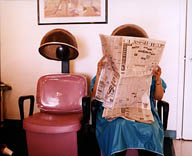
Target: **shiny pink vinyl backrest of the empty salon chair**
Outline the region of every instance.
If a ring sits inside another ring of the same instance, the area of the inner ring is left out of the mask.
[[[82,75],[52,74],[38,80],[36,101],[40,111],[69,113],[82,111],[87,80]]]

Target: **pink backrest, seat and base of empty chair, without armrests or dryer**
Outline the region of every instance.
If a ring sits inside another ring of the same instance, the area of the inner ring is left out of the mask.
[[[87,81],[82,75],[52,74],[38,80],[40,112],[23,120],[29,156],[78,155],[77,131],[86,95]]]

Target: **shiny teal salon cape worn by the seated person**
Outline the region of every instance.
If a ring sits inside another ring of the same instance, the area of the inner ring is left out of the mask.
[[[95,83],[92,79],[91,88]],[[164,90],[166,83],[161,79]],[[102,118],[103,107],[100,102],[96,119],[96,137],[103,156],[114,156],[115,153],[126,149],[144,149],[163,155],[164,131],[154,103],[155,79],[152,77],[150,88],[151,111],[153,123],[141,123],[123,118],[107,121]]]

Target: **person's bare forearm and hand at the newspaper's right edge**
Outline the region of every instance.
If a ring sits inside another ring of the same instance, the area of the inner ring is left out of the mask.
[[[164,95],[164,89],[161,83],[161,68],[158,66],[156,70],[153,71],[153,76],[155,77],[155,92],[154,98],[155,100],[161,100]]]

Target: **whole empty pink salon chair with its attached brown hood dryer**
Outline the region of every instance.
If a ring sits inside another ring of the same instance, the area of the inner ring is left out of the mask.
[[[33,114],[34,96],[19,98],[28,155],[77,156],[77,132],[82,129],[83,119],[89,116],[82,106],[89,107],[90,101],[86,77],[69,74],[69,60],[78,56],[76,40],[68,31],[54,29],[43,37],[39,52],[47,59],[62,61],[62,73],[39,78],[36,90],[39,112]],[[24,118],[27,99],[31,101],[30,111],[29,117]]]

